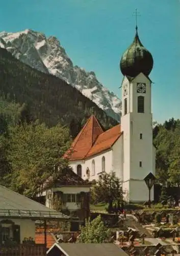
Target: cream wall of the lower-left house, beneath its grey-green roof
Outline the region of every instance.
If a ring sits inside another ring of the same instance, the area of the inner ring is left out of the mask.
[[[0,222],[5,219],[0,219]],[[24,240],[24,238],[32,237],[35,239],[35,221],[29,219],[9,219],[14,222],[15,225],[20,226],[20,242]],[[2,224],[4,227],[11,227],[11,224]],[[10,231],[12,232],[12,231]]]

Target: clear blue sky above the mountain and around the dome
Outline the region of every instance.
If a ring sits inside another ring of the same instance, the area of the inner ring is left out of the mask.
[[[74,65],[93,70],[98,80],[121,97],[119,60],[135,35],[154,59],[150,74],[153,119],[180,118],[179,0],[6,0],[0,30],[27,28],[56,36]]]

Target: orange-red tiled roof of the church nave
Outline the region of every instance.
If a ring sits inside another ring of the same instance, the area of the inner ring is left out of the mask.
[[[82,160],[108,150],[121,135],[120,124],[104,132],[94,115],[92,115],[81,132],[74,139],[68,156],[70,161]]]

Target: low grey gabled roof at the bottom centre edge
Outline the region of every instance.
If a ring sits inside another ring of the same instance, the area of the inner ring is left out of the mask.
[[[59,248],[66,256],[126,256],[127,254],[115,244],[84,244],[84,243],[55,243],[48,251]]]

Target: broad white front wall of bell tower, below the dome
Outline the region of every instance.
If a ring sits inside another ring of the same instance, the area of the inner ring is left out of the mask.
[[[137,94],[137,82],[146,83],[146,93]],[[131,179],[144,179],[148,173],[153,172],[151,84],[141,73],[133,80],[131,89]],[[144,113],[137,112],[138,96],[144,97]]]

